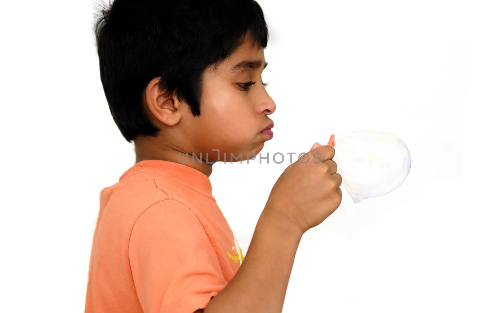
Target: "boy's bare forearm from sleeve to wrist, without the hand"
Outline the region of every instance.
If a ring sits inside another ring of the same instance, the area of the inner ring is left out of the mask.
[[[263,210],[239,271],[204,313],[282,312],[302,233],[274,221]]]

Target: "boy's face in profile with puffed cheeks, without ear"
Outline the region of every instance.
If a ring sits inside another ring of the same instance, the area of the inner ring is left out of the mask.
[[[254,68],[233,69],[243,61],[260,62],[260,65]],[[182,147],[185,151],[196,154],[203,152],[203,159],[208,152],[210,162],[238,162],[241,159],[236,160],[236,157],[240,153],[242,160],[248,159],[248,153],[249,159],[257,156],[264,142],[271,139],[261,131],[271,121],[267,115],[275,111],[275,103],[261,82],[264,67],[263,49],[257,44],[252,46],[251,38],[246,37],[244,43],[220,63],[216,72],[214,66],[205,70],[201,115],[194,117],[184,106],[181,109],[181,119],[176,125],[177,130],[183,134],[184,144],[187,145]],[[245,84],[248,82],[255,84]],[[217,151],[212,149],[220,150],[219,158]],[[226,158],[224,153],[227,153]],[[232,160],[231,153],[235,156]]]

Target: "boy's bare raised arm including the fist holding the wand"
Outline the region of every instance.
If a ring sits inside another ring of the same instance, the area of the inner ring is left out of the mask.
[[[332,160],[334,148],[315,143],[310,152],[314,157],[318,153],[323,161],[303,158],[280,175],[239,271],[207,304],[204,313],[232,312],[233,308],[241,313],[282,312],[303,233],[320,224],[342,201],[342,177]]]

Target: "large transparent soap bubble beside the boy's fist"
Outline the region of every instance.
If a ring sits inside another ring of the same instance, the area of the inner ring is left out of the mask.
[[[411,157],[404,142],[383,131],[353,131],[332,135],[337,173],[353,202],[379,197],[398,188],[408,176]]]

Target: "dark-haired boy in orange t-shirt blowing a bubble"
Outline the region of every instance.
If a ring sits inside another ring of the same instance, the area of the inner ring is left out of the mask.
[[[260,6],[115,0],[102,13],[101,80],[136,163],[100,194],[85,312],[281,312],[300,238],[339,207],[342,178],[315,143],[275,183],[244,258],[209,176],[271,139]]]

